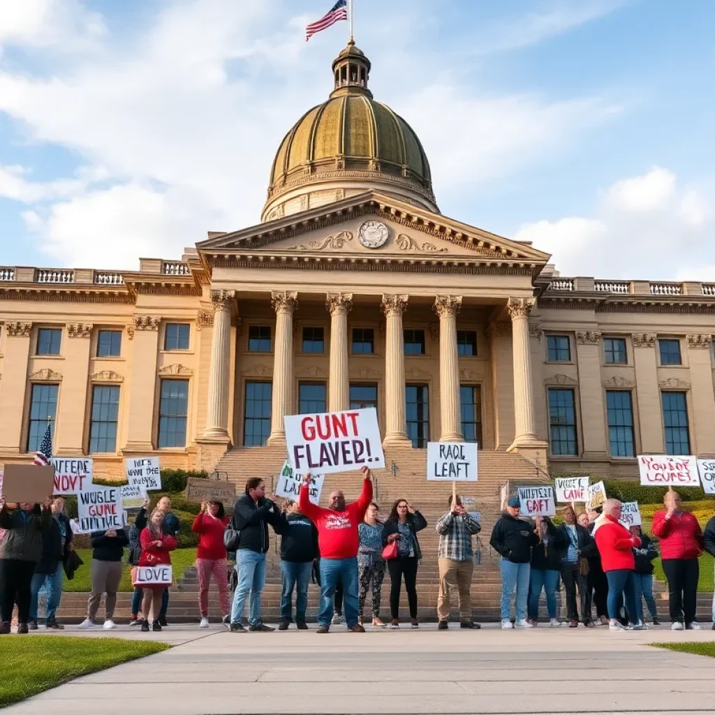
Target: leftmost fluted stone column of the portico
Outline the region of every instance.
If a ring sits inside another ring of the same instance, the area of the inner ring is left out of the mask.
[[[211,368],[209,370],[209,400],[204,439],[227,442],[228,385],[231,363],[231,305],[235,298],[232,290],[212,290],[214,307],[214,332],[211,342]]]

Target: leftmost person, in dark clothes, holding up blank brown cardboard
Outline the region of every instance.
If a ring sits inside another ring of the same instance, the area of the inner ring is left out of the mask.
[[[21,503],[9,509],[0,497],[0,635],[10,632],[17,603],[17,632],[29,631],[32,576],[42,556],[43,534],[52,523],[51,499],[39,504]]]

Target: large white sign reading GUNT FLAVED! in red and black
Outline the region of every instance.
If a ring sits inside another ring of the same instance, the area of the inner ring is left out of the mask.
[[[333,474],[385,466],[375,408],[285,416],[288,460],[297,472]]]

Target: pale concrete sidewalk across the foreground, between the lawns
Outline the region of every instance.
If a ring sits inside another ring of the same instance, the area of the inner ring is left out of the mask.
[[[228,633],[170,626],[162,633],[68,628],[161,640],[174,648],[84,676],[6,710],[13,715],[238,713],[714,713],[715,659],[653,649],[656,641],[714,641],[714,631],[606,628],[501,631],[370,629]],[[42,631],[39,631],[42,632]]]

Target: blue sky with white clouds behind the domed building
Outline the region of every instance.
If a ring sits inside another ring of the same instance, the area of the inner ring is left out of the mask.
[[[0,3],[1,265],[137,267],[258,221],[330,92],[330,0]],[[715,282],[715,4],[355,0],[447,215],[564,275]]]

